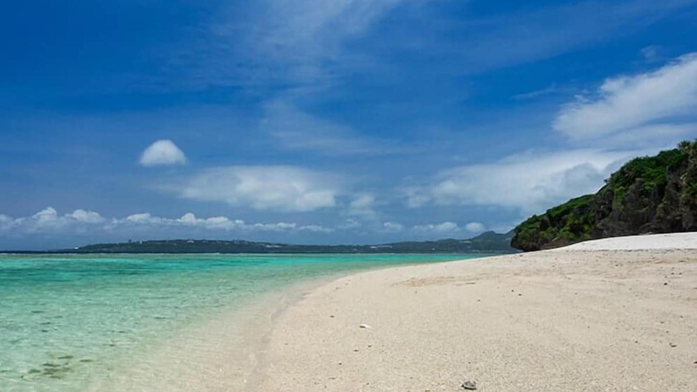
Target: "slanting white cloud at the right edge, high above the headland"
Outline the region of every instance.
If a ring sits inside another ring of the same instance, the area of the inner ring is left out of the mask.
[[[622,142],[695,133],[697,54],[649,73],[606,80],[595,96],[562,108],[553,128],[572,140]],[[664,142],[665,143],[665,142]]]

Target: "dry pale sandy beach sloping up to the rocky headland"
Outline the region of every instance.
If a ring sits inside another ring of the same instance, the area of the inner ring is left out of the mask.
[[[615,248],[652,239],[627,241]],[[461,391],[470,379],[497,392],[697,391],[697,251],[576,248],[585,250],[321,285],[275,313],[263,338],[250,338],[253,369],[229,385]]]

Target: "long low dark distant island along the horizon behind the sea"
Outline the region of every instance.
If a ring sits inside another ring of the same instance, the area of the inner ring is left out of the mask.
[[[172,239],[97,243],[70,253],[511,253],[513,232],[484,232],[471,239],[404,241],[376,245],[296,245],[244,240]]]

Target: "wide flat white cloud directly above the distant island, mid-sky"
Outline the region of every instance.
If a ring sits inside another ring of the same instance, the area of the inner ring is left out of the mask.
[[[207,169],[181,190],[187,199],[227,202],[258,210],[313,211],[337,204],[336,176],[292,166]]]

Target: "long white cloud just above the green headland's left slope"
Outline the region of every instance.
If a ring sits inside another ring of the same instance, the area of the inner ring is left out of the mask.
[[[595,192],[636,151],[578,149],[516,154],[496,163],[447,169],[420,187],[406,188],[406,204],[503,206],[523,213]]]

